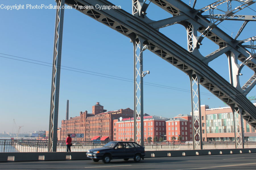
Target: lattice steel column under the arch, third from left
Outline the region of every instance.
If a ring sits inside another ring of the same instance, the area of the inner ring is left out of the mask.
[[[199,79],[195,73],[189,74],[191,87],[191,103],[192,103],[192,133],[193,133],[193,149],[203,149],[202,142],[202,124],[201,124],[201,104],[200,104],[200,88]]]

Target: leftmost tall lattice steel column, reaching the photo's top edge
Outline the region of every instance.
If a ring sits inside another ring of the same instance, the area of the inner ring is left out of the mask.
[[[59,82],[61,66],[61,47],[65,0],[56,0],[57,6],[55,16],[55,34],[53,45],[52,79],[51,79],[51,105],[49,119],[48,152],[57,151],[57,126],[59,111]]]

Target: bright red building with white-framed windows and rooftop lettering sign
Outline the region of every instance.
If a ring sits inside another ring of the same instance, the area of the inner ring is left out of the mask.
[[[147,114],[144,114],[144,140],[146,141],[148,137],[151,137],[152,141],[154,140],[154,137],[156,137],[156,140],[158,141],[161,137],[163,140],[166,138],[166,120],[167,118],[159,117],[159,116],[149,116]],[[120,118],[115,119],[113,121],[113,140],[132,140],[134,141],[134,119],[133,117],[129,118]],[[140,131],[140,123],[141,121],[137,121],[139,129],[137,131]],[[140,140],[141,136],[137,136],[137,140]]]

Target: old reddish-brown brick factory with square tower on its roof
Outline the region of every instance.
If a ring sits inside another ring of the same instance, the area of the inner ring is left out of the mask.
[[[76,134],[73,140],[113,140],[113,119],[131,117],[133,110],[127,108],[106,111],[104,106],[97,102],[96,105],[92,106],[92,114],[85,111],[80,112],[80,116],[62,120],[61,140],[65,140],[68,133]]]

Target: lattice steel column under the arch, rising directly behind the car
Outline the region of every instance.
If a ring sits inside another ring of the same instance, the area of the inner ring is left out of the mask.
[[[134,60],[134,141],[144,146],[143,77],[145,74],[143,73],[143,51],[145,49],[143,49],[143,42],[145,40],[139,35],[135,35],[131,40]],[[141,124],[137,125],[137,121],[140,121]]]

